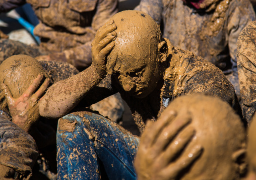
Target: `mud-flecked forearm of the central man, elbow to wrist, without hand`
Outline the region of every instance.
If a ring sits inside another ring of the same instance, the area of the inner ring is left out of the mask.
[[[40,115],[46,118],[60,118],[69,113],[95,87],[104,75],[93,66],[66,80],[53,84],[40,102]]]

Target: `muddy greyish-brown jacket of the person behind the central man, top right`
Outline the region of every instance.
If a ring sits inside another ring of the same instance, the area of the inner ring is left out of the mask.
[[[248,0],[211,0],[204,9],[182,0],[141,0],[136,10],[162,23],[163,36],[175,47],[203,57],[224,73],[236,67],[237,38],[255,20]]]

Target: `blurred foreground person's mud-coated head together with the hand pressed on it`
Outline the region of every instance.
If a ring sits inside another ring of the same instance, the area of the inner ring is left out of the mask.
[[[245,154],[239,116],[219,98],[198,93],[175,99],[157,122],[148,122],[135,168],[138,180],[239,180],[246,175]]]

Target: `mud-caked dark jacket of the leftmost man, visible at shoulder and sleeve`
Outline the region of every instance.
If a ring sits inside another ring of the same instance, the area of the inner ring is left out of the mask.
[[[68,63],[50,61],[40,63],[53,82],[78,73],[78,70]],[[13,178],[30,179],[37,156],[35,140],[14,124],[4,109],[0,109],[0,164],[15,170]]]

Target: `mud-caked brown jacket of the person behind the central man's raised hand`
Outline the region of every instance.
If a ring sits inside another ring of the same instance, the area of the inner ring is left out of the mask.
[[[51,59],[79,66],[91,63],[96,31],[117,13],[117,0],[0,0],[0,12],[31,4],[40,23],[34,34]],[[54,54],[55,53],[55,54]]]

